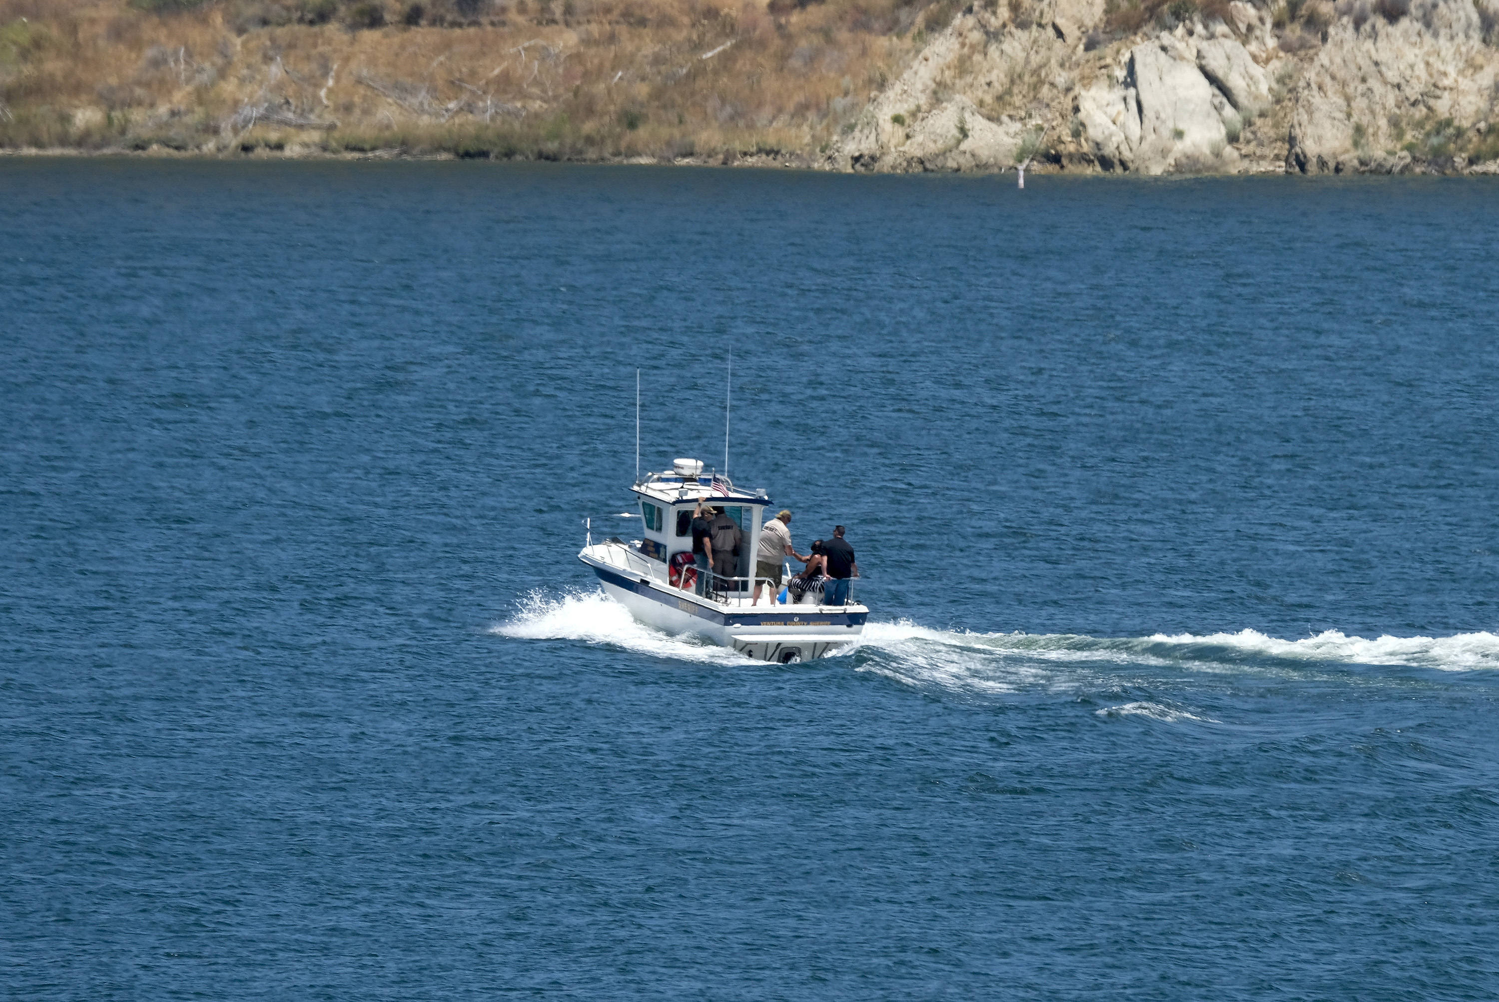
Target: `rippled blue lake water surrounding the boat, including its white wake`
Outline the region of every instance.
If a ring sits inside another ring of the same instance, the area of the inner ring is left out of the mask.
[[[0,986],[1493,999],[1496,308],[1495,180],[0,160]],[[576,560],[730,354],[841,657]]]

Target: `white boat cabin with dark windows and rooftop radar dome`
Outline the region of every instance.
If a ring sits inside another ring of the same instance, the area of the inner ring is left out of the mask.
[[[667,472],[649,472],[631,490],[640,498],[640,555],[667,567],[678,554],[693,552],[693,510],[699,501],[723,508],[739,526],[738,570],[724,590],[752,591],[754,555],[760,544],[760,525],[770,501],[764,490],[739,490],[729,477],[705,474],[700,459],[678,459]]]

